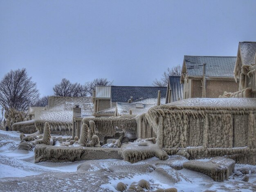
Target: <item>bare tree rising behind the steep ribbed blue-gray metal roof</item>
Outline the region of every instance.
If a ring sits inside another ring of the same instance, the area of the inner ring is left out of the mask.
[[[164,71],[162,78],[160,78],[159,80],[155,79],[152,84],[154,86],[166,87],[168,85],[169,76],[180,76],[181,70],[182,69],[181,69],[180,65],[176,65],[176,66],[172,67],[171,69],[168,67],[167,71]]]

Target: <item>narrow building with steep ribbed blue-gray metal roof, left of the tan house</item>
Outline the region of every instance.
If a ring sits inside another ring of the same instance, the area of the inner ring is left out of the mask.
[[[175,102],[183,99],[183,84],[180,76],[169,76],[165,103]]]

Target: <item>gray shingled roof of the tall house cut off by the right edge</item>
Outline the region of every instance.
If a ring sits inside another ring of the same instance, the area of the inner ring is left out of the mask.
[[[238,45],[243,65],[255,63],[256,42],[239,42]]]

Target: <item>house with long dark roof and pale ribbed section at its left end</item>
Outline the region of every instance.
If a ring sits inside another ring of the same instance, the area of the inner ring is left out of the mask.
[[[119,103],[132,103],[137,100],[157,98],[158,91],[166,97],[166,87],[141,86],[97,86],[93,95],[94,113],[115,107]]]

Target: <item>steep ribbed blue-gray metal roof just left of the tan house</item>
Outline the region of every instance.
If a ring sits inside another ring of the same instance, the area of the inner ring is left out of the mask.
[[[180,76],[169,76],[169,86],[171,91],[171,101],[177,101],[183,99],[183,84],[180,83]],[[169,87],[168,87],[169,88]],[[168,91],[168,90],[167,90]],[[168,98],[166,97],[166,103]]]

